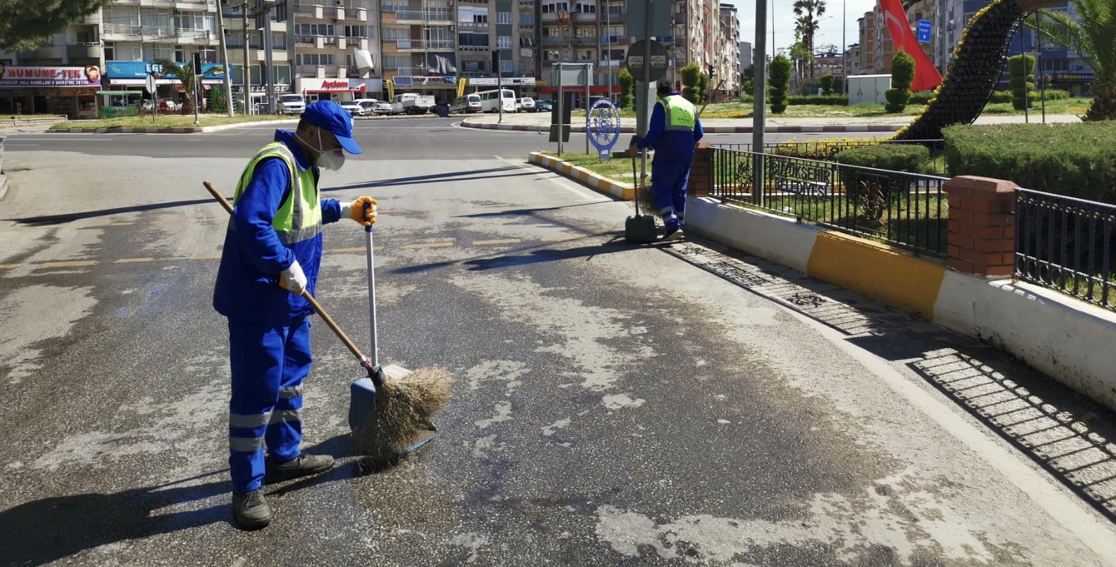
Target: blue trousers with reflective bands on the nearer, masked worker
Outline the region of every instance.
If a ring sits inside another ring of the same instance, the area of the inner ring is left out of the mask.
[[[229,470],[233,492],[263,483],[264,455],[280,463],[299,455],[302,381],[310,373],[310,321],[229,319]]]

